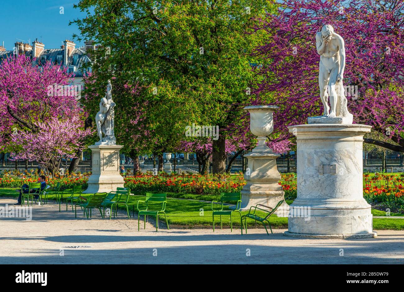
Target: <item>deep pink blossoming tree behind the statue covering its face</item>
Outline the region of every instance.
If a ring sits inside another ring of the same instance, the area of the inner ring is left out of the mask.
[[[322,114],[315,33],[330,24],[345,40],[343,83],[351,93],[347,99],[354,123],[372,125],[391,139],[389,143],[369,137],[366,143],[403,152],[404,2],[284,0],[276,5],[277,13],[268,14],[256,27],[270,38],[254,53],[265,59],[256,68],[264,81],[255,93],[280,106],[274,134],[292,139],[289,125]]]

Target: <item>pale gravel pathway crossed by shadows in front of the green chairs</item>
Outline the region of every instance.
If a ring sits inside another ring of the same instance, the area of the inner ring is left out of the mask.
[[[0,199],[0,207],[13,204]],[[361,240],[290,238],[264,229],[165,229],[157,233],[154,221],[137,231],[137,220],[83,219],[72,209],[59,213],[50,202],[34,206],[31,221],[0,219],[0,263],[404,263],[404,231],[379,230],[379,236]],[[141,221],[142,223],[143,221]],[[141,228],[142,228],[141,224]],[[80,248],[73,247],[80,246]]]

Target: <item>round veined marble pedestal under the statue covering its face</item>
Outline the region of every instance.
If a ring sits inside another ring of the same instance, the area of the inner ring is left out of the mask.
[[[311,124],[288,127],[297,136],[297,198],[285,235],[375,237],[363,198],[362,143],[371,126]]]

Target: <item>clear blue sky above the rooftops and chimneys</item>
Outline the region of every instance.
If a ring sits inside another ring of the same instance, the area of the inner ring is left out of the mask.
[[[15,42],[27,43],[30,39],[32,45],[38,38],[42,39],[45,49],[60,48],[65,39],[72,40],[73,33],[80,34],[76,25],[69,25],[69,21],[86,16],[73,8],[77,3],[78,0],[1,0],[0,45],[4,41],[6,50],[13,50]],[[61,6],[64,14],[60,14]],[[76,47],[84,45],[77,40],[74,42]]]

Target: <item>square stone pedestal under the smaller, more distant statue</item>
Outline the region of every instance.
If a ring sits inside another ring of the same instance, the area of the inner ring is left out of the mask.
[[[93,173],[88,178],[88,188],[83,193],[111,192],[123,188],[124,178],[119,174],[119,150],[122,145],[91,145]]]

